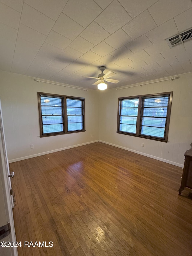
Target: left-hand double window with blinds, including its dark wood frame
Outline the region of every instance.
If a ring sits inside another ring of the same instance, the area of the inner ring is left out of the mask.
[[[40,137],[85,131],[85,98],[38,92]]]

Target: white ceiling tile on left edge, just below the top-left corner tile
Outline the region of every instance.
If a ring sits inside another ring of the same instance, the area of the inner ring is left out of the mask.
[[[19,28],[19,20],[21,14],[18,11],[4,5],[0,2],[0,22],[12,27],[13,29]]]

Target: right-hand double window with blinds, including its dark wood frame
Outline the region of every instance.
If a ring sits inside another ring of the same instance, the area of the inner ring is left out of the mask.
[[[119,98],[117,133],[167,142],[172,95]]]

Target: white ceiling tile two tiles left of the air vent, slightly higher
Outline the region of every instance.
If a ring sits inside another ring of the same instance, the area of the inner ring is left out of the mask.
[[[155,21],[149,14],[149,11],[146,10],[128,22],[122,27],[122,29],[125,30],[125,32],[131,36],[131,38],[136,39],[155,27],[157,27]]]

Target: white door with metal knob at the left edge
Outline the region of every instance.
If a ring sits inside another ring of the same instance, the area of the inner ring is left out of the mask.
[[[10,233],[4,238],[0,239],[0,255],[3,256],[17,256],[16,237],[13,222],[13,198],[10,196],[10,178],[9,175],[9,165],[7,160],[7,151],[4,138],[3,120],[1,112],[1,102],[0,102],[0,234],[2,235],[4,231],[8,230],[9,227],[6,226],[10,223]],[[1,238],[1,236],[0,236]]]

